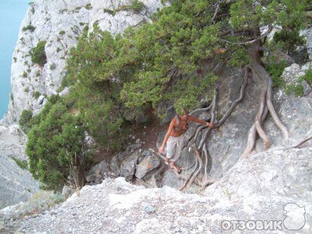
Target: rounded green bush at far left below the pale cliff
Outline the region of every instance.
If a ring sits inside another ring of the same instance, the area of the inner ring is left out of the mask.
[[[45,183],[45,189],[61,189],[70,165],[84,167],[84,125],[65,105],[54,104],[45,119],[27,134],[29,171]],[[76,159],[77,158],[77,159]]]

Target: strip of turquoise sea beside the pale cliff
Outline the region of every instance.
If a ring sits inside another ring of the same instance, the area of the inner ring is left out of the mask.
[[[0,0],[0,118],[8,111],[12,54],[31,0]]]

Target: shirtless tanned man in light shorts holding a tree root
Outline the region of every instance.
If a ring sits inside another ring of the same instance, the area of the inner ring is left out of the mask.
[[[166,153],[166,164],[169,164],[171,168],[175,169],[177,172],[180,172],[180,169],[176,165],[176,160],[180,157],[180,151],[182,149],[183,136],[187,130],[189,121],[196,123],[201,123],[207,125],[208,127],[213,127],[212,123],[208,123],[205,120],[189,116],[188,111],[184,111],[183,116],[178,114],[171,120],[169,129],[164,137],[162,146],[159,148],[158,154]],[[166,150],[165,150],[166,146]],[[166,151],[166,152],[165,152]]]

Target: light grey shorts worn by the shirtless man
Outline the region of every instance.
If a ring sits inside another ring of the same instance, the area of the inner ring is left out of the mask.
[[[172,162],[176,162],[180,157],[180,152],[184,143],[184,134],[180,137],[172,137],[170,136],[168,141],[166,142],[166,157],[170,159]]]

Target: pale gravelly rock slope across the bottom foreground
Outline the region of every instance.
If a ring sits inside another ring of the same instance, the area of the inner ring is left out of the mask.
[[[275,148],[235,164],[203,196],[171,187],[146,189],[116,178],[85,186],[40,214],[10,221],[19,210],[15,205],[1,210],[0,217],[8,233],[241,232],[227,228],[224,220],[279,221],[272,230],[251,226],[245,233],[311,233],[311,160],[311,147]]]

